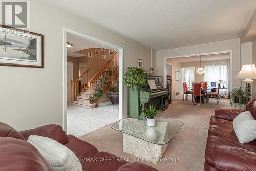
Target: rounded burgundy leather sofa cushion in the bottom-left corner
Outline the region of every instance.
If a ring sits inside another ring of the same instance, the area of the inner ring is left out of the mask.
[[[30,143],[11,137],[0,138],[0,171],[53,171],[52,166]]]

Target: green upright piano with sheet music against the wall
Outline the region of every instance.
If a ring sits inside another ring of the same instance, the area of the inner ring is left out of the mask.
[[[157,89],[151,90],[148,86],[148,80],[154,80]],[[146,76],[145,86],[132,86],[129,88],[128,116],[131,118],[144,118],[143,108],[148,108],[150,104],[156,106],[156,109],[164,110],[163,100],[167,97],[167,89],[161,87],[160,76]]]

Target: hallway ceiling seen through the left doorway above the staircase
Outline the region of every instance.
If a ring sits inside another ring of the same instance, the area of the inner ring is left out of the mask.
[[[71,44],[73,44],[73,47],[67,48],[67,56],[72,56],[72,57],[84,56],[84,54],[74,53],[83,49],[89,49],[89,48],[113,49],[108,46],[104,46],[101,44],[97,44],[96,42],[83,39],[72,33],[67,33],[67,42],[70,42]]]

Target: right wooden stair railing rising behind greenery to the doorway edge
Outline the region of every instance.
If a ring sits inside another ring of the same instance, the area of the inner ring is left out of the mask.
[[[95,91],[97,90],[97,85],[99,81],[104,79],[104,73],[106,71],[111,70],[111,76],[117,75],[118,76],[118,52],[116,52],[106,63],[100,68],[100,70],[88,81],[88,94],[89,97],[93,97]],[[118,77],[117,77],[118,79]],[[102,91],[105,93],[111,86],[111,82],[108,81],[105,84],[102,84]],[[94,102],[97,102],[98,99],[94,99]],[[92,101],[90,100],[89,103]]]

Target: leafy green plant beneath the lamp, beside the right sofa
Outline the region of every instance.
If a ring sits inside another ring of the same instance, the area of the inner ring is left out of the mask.
[[[246,97],[245,97],[245,88],[242,87],[240,84],[240,87],[236,86],[231,92],[229,97],[229,104],[232,108],[236,107],[236,104],[245,104],[246,103]]]

